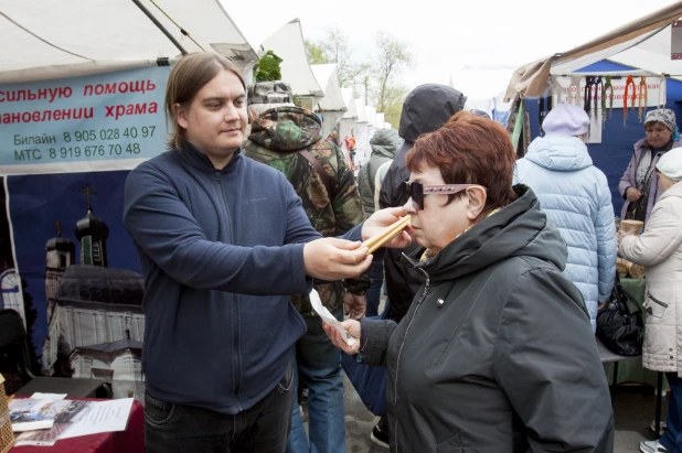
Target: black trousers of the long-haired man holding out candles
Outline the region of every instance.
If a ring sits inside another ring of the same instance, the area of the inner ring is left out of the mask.
[[[294,376],[235,416],[145,396],[147,453],[284,453],[291,429]]]

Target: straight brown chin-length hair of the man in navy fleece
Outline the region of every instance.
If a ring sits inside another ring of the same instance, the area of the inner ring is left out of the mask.
[[[185,141],[184,130],[178,125],[173,106],[189,106],[194,96],[213,79],[221,71],[230,71],[242,82],[246,89],[239,68],[222,55],[199,52],[183,56],[168,76],[166,86],[166,119],[170,118],[172,132],[168,140],[171,148],[180,148]]]

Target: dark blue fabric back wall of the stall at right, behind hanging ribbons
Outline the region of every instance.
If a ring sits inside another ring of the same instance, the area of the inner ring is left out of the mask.
[[[578,73],[589,75],[595,72],[628,71],[630,67],[609,61],[603,61],[584,67]],[[678,118],[678,123],[682,120],[682,82],[669,79],[665,108],[672,109]],[[540,136],[539,100],[525,99],[524,108],[529,112],[531,137],[534,139]],[[650,108],[649,110],[651,110]],[[616,215],[620,215],[622,198],[618,193],[618,181],[632,158],[632,145],[644,137],[643,125],[639,121],[637,111],[628,114],[626,126],[622,123],[622,109],[614,109],[612,117],[606,121],[606,127],[601,131],[601,143],[587,145],[589,155],[595,166],[601,170],[608,180],[611,191],[611,201]]]

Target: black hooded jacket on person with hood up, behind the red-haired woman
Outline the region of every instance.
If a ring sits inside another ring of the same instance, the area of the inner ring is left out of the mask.
[[[382,184],[380,206],[403,206],[408,196],[404,182],[409,179],[405,168],[405,154],[423,133],[440,128],[455,114],[465,107],[467,97],[445,85],[427,84],[413,89],[403,103],[398,134],[405,139],[393,160]],[[417,246],[406,250],[387,249],[384,258],[386,272],[386,291],[391,303],[391,319],[399,321],[405,316],[415,292],[424,282],[419,273],[401,263],[402,252],[411,254]]]

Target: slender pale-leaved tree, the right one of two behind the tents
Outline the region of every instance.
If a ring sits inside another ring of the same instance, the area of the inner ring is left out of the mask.
[[[409,66],[413,56],[406,43],[386,32],[379,32],[375,36],[377,54],[374,58],[376,77],[376,111],[386,111],[390,97],[395,101],[393,80],[396,75]],[[392,96],[388,96],[388,95]],[[402,105],[402,101],[401,101]]]

